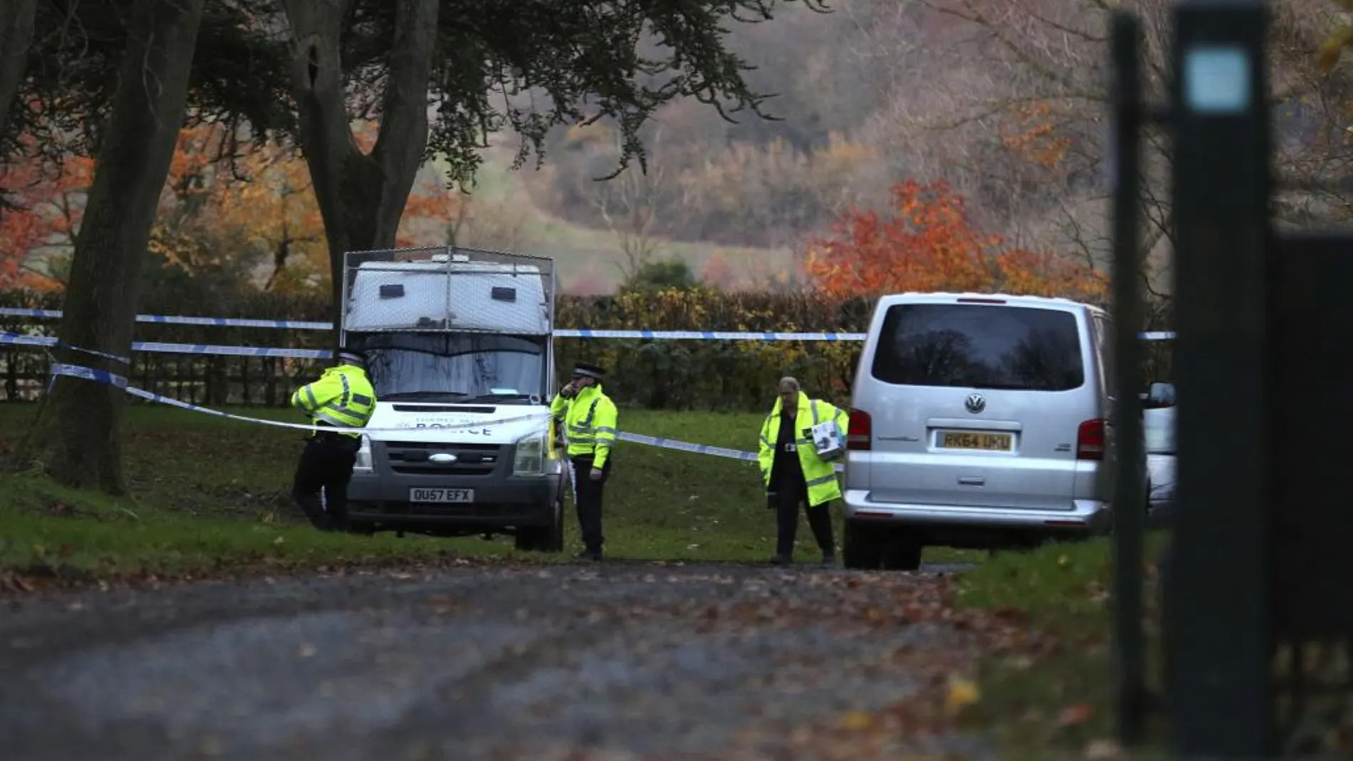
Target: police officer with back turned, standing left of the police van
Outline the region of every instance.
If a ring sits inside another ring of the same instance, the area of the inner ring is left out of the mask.
[[[365,354],[340,349],[334,366],[319,380],[298,388],[291,395],[291,406],[308,415],[313,424],[334,428],[311,431],[296,465],[291,496],[315,529],[346,531],[348,481],[361,447],[361,434],[344,428],[364,427],[376,407]]]

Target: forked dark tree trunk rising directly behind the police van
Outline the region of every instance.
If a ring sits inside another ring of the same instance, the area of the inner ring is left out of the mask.
[[[292,92],[300,146],[325,222],[334,322],[341,315],[344,253],[395,247],[395,232],[428,146],[428,84],[437,39],[437,0],[392,0],[380,131],[369,154],[352,134],[344,97],[340,34],[350,0],[284,0],[291,22]]]

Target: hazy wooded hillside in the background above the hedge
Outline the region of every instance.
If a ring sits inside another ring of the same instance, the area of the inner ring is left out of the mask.
[[[1164,99],[1169,3],[1127,4],[1145,22],[1150,96]],[[632,165],[605,182],[594,178],[616,172],[620,154],[605,122],[555,128],[538,170],[533,158],[506,169],[515,145],[503,137],[480,192],[498,193],[513,230],[499,231],[502,241],[557,251],[566,284],[580,291],[613,285],[645,258],[683,258],[698,272],[717,253],[739,284],[763,287],[781,273],[793,285],[813,237],[856,207],[886,207],[904,181],[944,182],[977,228],[1105,272],[1109,11],[1095,0],[850,0],[828,14],[787,5],[773,22],[731,28],[756,66],[751,82],[777,93],[766,105],[774,120],[668,104],[645,132],[647,173]],[[1315,65],[1333,9],[1292,0],[1273,12],[1279,170],[1327,181],[1350,158],[1349,77]],[[1146,150],[1151,187],[1166,188],[1164,141],[1151,135]],[[1164,295],[1170,201],[1151,187],[1142,199],[1147,277]],[[1342,222],[1349,201],[1285,193],[1280,223]]]

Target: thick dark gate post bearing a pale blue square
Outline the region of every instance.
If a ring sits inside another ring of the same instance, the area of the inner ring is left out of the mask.
[[[1266,757],[1269,108],[1258,0],[1174,8],[1177,496],[1168,702],[1185,757]]]

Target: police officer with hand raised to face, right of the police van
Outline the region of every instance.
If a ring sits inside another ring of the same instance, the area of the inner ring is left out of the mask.
[[[610,476],[617,426],[616,404],[602,391],[602,376],[599,366],[578,362],[572,380],[549,403],[568,439],[568,477],[583,534],[583,551],[576,557],[593,561],[601,560],[601,496]]]

